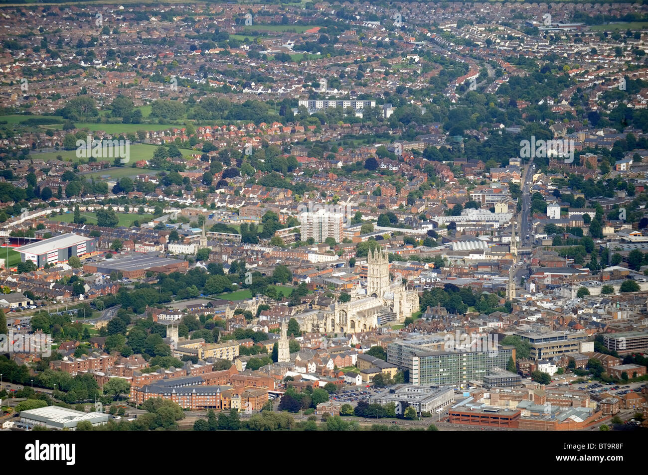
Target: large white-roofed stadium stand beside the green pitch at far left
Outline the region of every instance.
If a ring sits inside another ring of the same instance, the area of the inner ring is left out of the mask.
[[[45,264],[67,262],[72,256],[84,256],[94,250],[95,239],[74,233],[50,237],[16,248],[21,261],[32,261],[39,268],[45,267]]]

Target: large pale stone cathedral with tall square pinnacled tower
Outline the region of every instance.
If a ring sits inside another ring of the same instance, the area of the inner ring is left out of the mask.
[[[385,324],[400,324],[419,310],[419,293],[407,290],[400,278],[389,279],[388,253],[382,249],[367,256],[367,288],[360,283],[349,293],[349,302],[334,302],[327,309],[295,315],[303,331],[356,333]]]

